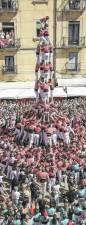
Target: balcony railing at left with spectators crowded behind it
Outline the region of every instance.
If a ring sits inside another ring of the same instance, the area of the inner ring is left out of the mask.
[[[0,38],[0,49],[18,49],[20,48],[20,39],[2,39]]]

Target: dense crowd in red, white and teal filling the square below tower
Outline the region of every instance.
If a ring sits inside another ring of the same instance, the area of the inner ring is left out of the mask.
[[[1,225],[86,224],[85,109],[86,98],[0,102]]]

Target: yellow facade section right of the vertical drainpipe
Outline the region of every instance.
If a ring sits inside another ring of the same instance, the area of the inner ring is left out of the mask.
[[[57,0],[56,72],[59,77],[86,74],[86,1]]]

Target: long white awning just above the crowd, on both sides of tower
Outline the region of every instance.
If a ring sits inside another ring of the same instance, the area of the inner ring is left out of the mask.
[[[50,96],[50,93],[49,93]],[[54,98],[66,98],[66,97],[85,97],[86,87],[68,87],[59,88],[56,87],[53,91]],[[10,88],[0,90],[0,99],[22,99],[22,98],[36,98],[34,88]]]

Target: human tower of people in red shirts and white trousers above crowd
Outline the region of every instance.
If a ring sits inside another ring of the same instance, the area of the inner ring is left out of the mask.
[[[39,37],[36,48],[35,67],[35,93],[36,101],[41,100],[45,104],[49,102],[49,97],[53,101],[53,46],[48,32],[49,17],[40,19]]]

